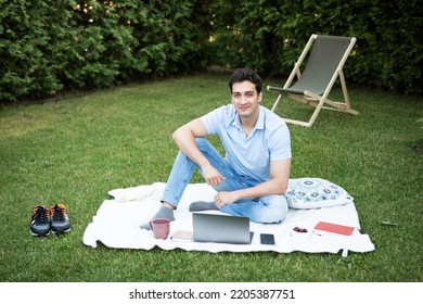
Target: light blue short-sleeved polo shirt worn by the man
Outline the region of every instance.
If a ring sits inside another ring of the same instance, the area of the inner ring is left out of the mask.
[[[226,160],[234,170],[253,180],[270,179],[270,162],[291,159],[291,136],[286,123],[267,107],[259,106],[255,128],[245,136],[232,104],[202,116],[208,135],[217,135]]]

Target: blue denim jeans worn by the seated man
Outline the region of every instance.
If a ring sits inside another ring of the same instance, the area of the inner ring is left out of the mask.
[[[234,191],[251,188],[261,182],[238,175],[231,164],[206,139],[196,138],[195,141],[200,151],[226,178],[220,185],[213,187],[216,191]],[[179,151],[162,201],[177,207],[195,168],[198,168],[197,165]],[[245,216],[257,223],[280,223],[287,214],[287,201],[284,195],[266,195],[253,200],[240,200],[225,205],[220,211],[235,216]]]

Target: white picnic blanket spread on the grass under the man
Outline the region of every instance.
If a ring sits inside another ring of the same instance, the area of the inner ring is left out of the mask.
[[[192,231],[192,214],[189,205],[194,201],[213,201],[215,190],[206,183],[188,185],[181,202],[175,212],[175,221],[170,225],[170,235],[167,240],[156,240],[153,232],[140,229],[139,226],[149,220],[159,208],[159,199],[165,188],[164,182],[143,185],[126,189],[111,190],[113,198],[105,200],[92,218],[84,233],[84,243],[97,248],[98,242],[115,249],[151,250],[158,246],[163,250],[182,249],[187,251],[207,252],[257,252],[274,251],[290,253],[302,251],[308,253],[338,253],[346,256],[348,251],[370,252],[374,250],[368,235],[360,233],[360,224],[354,202],[333,207],[294,210],[290,212],[281,224],[251,223],[254,238],[251,244],[222,244],[181,242],[171,240],[177,230]],[[213,211],[209,213],[220,213]],[[310,233],[308,238],[293,237],[292,226],[306,225],[315,227],[320,221],[331,221],[356,227],[352,236],[318,236]],[[260,233],[273,233],[275,244],[260,244]]]

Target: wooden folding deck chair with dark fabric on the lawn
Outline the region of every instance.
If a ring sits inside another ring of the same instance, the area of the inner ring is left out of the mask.
[[[284,118],[286,123],[311,127],[322,107],[358,115],[358,112],[350,107],[343,73],[343,66],[356,43],[356,40],[355,37],[311,35],[283,88],[267,87],[269,91],[279,92],[279,97],[271,111],[275,110],[282,94],[286,94],[291,100],[299,101],[316,107],[310,121],[302,122]],[[302,73],[302,64],[310,49],[311,53],[309,54],[308,62]],[[293,84],[295,76],[297,76],[297,81]],[[337,77],[339,77],[341,80],[344,102],[335,102],[328,99]]]

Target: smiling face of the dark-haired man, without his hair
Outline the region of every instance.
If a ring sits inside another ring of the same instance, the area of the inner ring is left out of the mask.
[[[261,98],[262,93],[258,94],[256,86],[248,80],[232,85],[232,104],[241,118],[258,117],[258,105]]]

